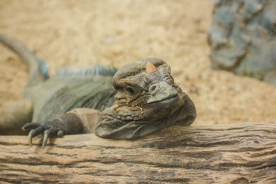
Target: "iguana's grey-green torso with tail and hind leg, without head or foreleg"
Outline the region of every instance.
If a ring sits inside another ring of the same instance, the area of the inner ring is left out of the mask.
[[[41,61],[25,45],[1,34],[0,42],[16,52],[30,71],[23,100],[0,108],[0,134],[26,134],[21,131],[26,122],[52,120],[74,108],[102,111],[114,102],[115,70],[96,66],[88,70],[91,74],[69,72],[47,79]]]

